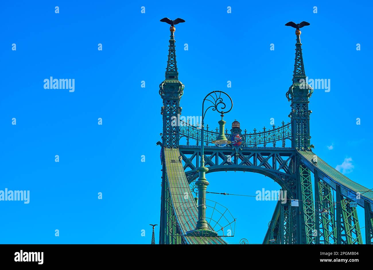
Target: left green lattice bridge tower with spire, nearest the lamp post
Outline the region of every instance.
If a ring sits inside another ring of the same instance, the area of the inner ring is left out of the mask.
[[[175,50],[175,26],[170,27],[170,40],[165,79],[159,85],[159,94],[163,100],[161,115],[163,116],[162,149],[177,148],[179,146],[179,115],[182,108],[180,99],[183,94],[184,84],[178,79],[178,68],[176,64]],[[168,182],[166,181],[165,164],[162,164],[162,197],[161,197],[161,221],[160,221],[160,244],[178,244],[179,237],[173,237],[178,232],[176,219],[170,203]]]

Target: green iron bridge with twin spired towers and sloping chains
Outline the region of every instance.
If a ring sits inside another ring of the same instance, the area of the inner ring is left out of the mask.
[[[157,143],[162,147],[159,243],[226,244],[223,235],[205,219],[209,184],[205,175],[249,171],[270,177],[286,190],[286,199],[278,201],[263,244],[363,244],[363,237],[366,244],[372,244],[373,191],[348,179],[312,151],[308,103],[313,89],[305,83],[301,31],[297,28],[295,32],[294,74],[286,93],[291,120],[251,133],[242,131],[237,121],[228,131],[224,120],[219,121],[220,130],[209,130],[208,125],[205,130],[203,121],[191,125],[179,120],[184,84],[178,79],[174,33],[172,24],[166,75],[159,90],[163,100],[162,142]],[[218,105],[225,109],[220,91],[211,93],[206,96],[213,103],[210,107],[218,112]],[[221,112],[222,119],[226,112]],[[202,111],[203,116],[205,113]],[[239,143],[216,146],[216,138],[232,136]],[[198,200],[193,198],[193,187],[198,189]],[[357,207],[364,208],[363,223]],[[364,236],[361,227],[365,227]]]

